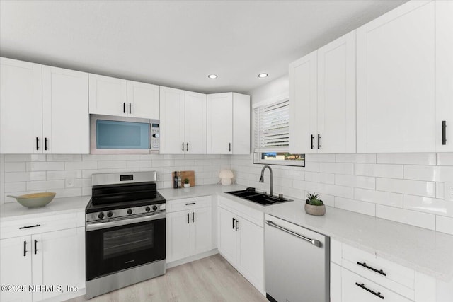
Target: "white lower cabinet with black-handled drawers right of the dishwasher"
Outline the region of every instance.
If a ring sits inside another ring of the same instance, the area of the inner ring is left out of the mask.
[[[445,282],[331,239],[331,302],[453,301]]]

